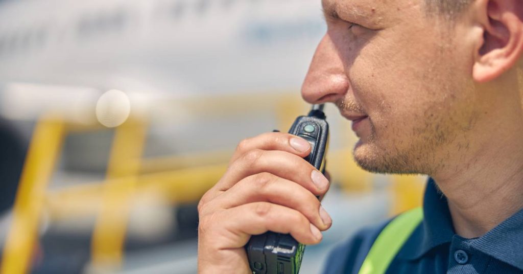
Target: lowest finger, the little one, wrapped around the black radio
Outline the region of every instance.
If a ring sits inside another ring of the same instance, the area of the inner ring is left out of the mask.
[[[322,234],[300,212],[282,205],[257,202],[233,207],[217,212],[214,218],[221,220],[229,235],[224,235],[224,248],[240,248],[247,244],[251,235],[267,231],[291,234],[298,242],[305,245],[317,244]]]

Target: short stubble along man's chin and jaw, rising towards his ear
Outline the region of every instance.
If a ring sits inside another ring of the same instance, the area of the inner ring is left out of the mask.
[[[420,104],[425,109],[417,113],[415,124],[395,120],[374,123],[369,117],[371,133],[365,140],[358,141],[353,153],[362,169],[373,173],[432,176],[449,169],[449,159],[453,155],[465,154],[469,150],[469,131],[474,128],[478,114],[468,107],[471,102],[467,103],[460,94],[470,95],[473,85],[463,82],[452,72],[451,68],[457,67],[453,58],[456,45],[448,31],[443,30],[440,34],[443,42],[435,52],[440,57],[435,59],[437,63],[417,75],[416,79],[422,81],[413,88],[425,91],[431,101]],[[385,123],[389,123],[388,126]]]

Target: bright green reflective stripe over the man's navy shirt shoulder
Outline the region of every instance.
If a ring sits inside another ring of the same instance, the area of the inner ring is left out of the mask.
[[[423,220],[423,209],[407,211],[392,220],[372,244],[359,274],[384,274],[392,259]]]

